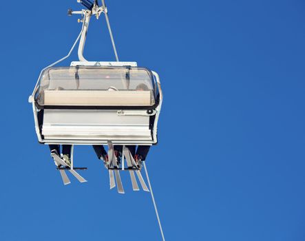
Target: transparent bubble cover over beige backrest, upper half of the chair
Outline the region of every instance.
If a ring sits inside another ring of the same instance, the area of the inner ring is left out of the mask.
[[[152,106],[156,83],[143,67],[50,67],[41,74],[43,105]]]

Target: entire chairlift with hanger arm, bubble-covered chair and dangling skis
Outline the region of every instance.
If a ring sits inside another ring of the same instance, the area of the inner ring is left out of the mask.
[[[39,143],[72,145],[71,165],[56,154],[54,162],[63,183],[70,183],[65,171],[78,181],[86,180],[75,170],[74,145],[108,145],[110,189],[117,186],[124,193],[119,171],[129,171],[132,187],[138,191],[136,176],[145,191],[149,191],[129,149],[125,145],[156,145],[157,125],[162,105],[162,89],[156,72],[138,67],[136,62],[120,62],[107,17],[105,2],[78,0],[86,10],[68,10],[68,15],[81,14],[82,29],[67,56],[45,67],[39,76],[29,102],[32,103],[34,124]],[[96,19],[104,13],[116,56],[116,62],[87,61],[83,49],[92,15]],[[78,59],[68,67],[54,67],[67,59],[78,43]],[[145,90],[138,91],[138,86]],[[118,163],[114,145],[123,145]],[[125,160],[127,167],[125,167]],[[135,175],[136,174],[136,175]],[[114,180],[116,178],[116,182]],[[147,176],[148,177],[148,176]]]

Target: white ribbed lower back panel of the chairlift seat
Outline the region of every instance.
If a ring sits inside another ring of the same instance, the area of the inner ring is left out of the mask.
[[[45,109],[42,134],[45,140],[152,140],[149,116],[98,109]]]

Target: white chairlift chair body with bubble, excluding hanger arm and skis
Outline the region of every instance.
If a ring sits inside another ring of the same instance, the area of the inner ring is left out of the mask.
[[[156,144],[161,105],[156,72],[134,63],[89,64],[49,67],[41,74],[32,102],[39,142]],[[137,90],[141,85],[147,90]]]

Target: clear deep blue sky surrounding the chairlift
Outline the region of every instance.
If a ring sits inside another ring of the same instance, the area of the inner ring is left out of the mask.
[[[108,0],[121,61],[160,74],[159,144],[147,159],[167,240],[305,240],[305,3]],[[64,187],[34,133],[28,96],[67,54],[76,1],[1,6],[0,240],[161,240],[149,193],[109,190],[92,147],[89,180]],[[92,19],[92,61],[114,61]],[[64,64],[77,60],[76,53]]]

